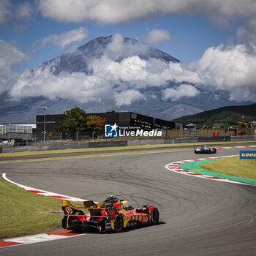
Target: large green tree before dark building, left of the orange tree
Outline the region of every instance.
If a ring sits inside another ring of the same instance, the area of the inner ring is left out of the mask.
[[[86,111],[75,107],[71,110],[66,110],[61,116],[61,121],[56,127],[58,132],[63,132],[65,135],[72,135],[72,140],[75,140],[77,132],[85,132],[87,129],[87,114]]]

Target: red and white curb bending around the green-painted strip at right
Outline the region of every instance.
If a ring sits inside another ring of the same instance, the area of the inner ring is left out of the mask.
[[[225,157],[235,157],[235,155],[225,156]],[[181,169],[181,167],[180,167],[180,165],[182,165],[186,162],[195,162],[195,161],[200,161],[200,160],[204,160],[204,159],[217,159],[217,158],[221,158],[221,157],[206,157],[206,158],[200,158],[200,159],[189,159],[189,160],[183,160],[183,161],[178,161],[178,162],[171,162],[170,164],[165,165],[165,168],[167,170],[171,170],[175,173],[181,173],[181,174],[184,174],[184,175],[194,176],[194,177],[197,177],[197,178],[207,178],[207,179],[214,180],[214,181],[224,181],[224,182],[229,182],[229,183],[236,183],[236,184],[244,184],[244,185],[253,186],[252,184],[245,184],[245,183],[241,183],[241,182],[238,182],[238,181],[230,181],[227,178],[219,178],[219,177],[214,177],[214,176],[203,175],[203,174],[200,174],[200,173],[194,173],[194,172],[189,171],[189,170]]]

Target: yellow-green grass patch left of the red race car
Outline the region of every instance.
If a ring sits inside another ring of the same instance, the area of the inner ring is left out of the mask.
[[[42,213],[61,211],[60,199],[27,192],[1,178],[0,195],[1,239],[61,230],[62,214]]]

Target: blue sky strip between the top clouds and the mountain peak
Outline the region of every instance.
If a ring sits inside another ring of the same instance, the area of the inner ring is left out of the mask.
[[[120,33],[123,37],[137,38],[148,45],[159,48],[159,50],[174,56],[181,61],[196,61],[200,59],[203,52],[209,46],[226,44],[230,37],[235,38],[236,30],[222,29],[210,23],[203,15],[158,15],[152,20],[137,20],[121,24],[97,25],[94,22],[63,23],[50,18],[44,18],[39,12],[32,15],[19,30],[13,26],[4,26],[1,30],[1,39],[7,42],[14,42],[18,49],[29,56],[22,61],[15,69],[33,68],[37,64],[48,59],[59,56],[61,53],[75,46],[80,46],[96,37],[107,37]],[[88,29],[88,37],[67,45],[65,48],[58,48],[54,45],[45,45],[37,49],[35,42],[51,34],[61,34],[68,31],[85,27]],[[151,44],[143,39],[148,31],[152,29],[167,30],[170,39]]]

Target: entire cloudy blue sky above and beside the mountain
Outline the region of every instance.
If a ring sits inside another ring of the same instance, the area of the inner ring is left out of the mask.
[[[33,86],[21,79],[24,72],[48,59],[121,34],[181,60],[165,82],[211,86],[229,91],[230,100],[254,102],[255,13],[254,0],[0,0],[0,93],[13,97],[20,86]]]

